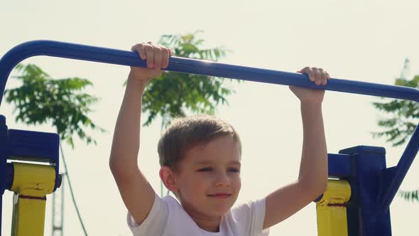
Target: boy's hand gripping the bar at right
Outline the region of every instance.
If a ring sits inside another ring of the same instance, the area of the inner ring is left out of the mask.
[[[327,80],[330,79],[330,75],[322,68],[305,67],[297,73],[308,75],[309,80],[315,85],[327,85]],[[301,102],[321,103],[325,95],[325,90],[310,90],[305,87],[290,86],[290,90]]]

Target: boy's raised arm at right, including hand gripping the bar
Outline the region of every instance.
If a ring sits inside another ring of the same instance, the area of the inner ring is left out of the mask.
[[[305,68],[303,73],[307,73],[316,85],[326,85],[330,78],[322,70],[316,75],[310,68]],[[323,82],[318,82],[322,80]],[[263,229],[276,225],[304,208],[324,193],[327,187],[327,148],[322,119],[322,98],[325,91],[292,86],[290,89],[301,101],[303,154],[300,173],[298,181],[279,188],[266,197]]]

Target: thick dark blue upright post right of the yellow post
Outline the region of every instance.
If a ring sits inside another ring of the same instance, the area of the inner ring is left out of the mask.
[[[390,210],[379,209],[379,195],[388,186],[382,177],[386,170],[386,149],[354,146],[339,151],[351,156],[353,175],[351,199],[347,204],[348,235],[391,235]],[[380,214],[378,214],[380,213]]]

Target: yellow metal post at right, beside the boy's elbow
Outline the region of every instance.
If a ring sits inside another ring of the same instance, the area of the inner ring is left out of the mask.
[[[348,235],[346,203],[349,198],[351,186],[347,181],[328,181],[326,192],[316,203],[319,236]]]

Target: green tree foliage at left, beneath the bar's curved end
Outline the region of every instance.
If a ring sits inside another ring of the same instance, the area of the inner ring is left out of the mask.
[[[60,139],[67,141],[72,148],[73,134],[87,144],[96,144],[92,136],[86,134],[85,127],[104,132],[87,117],[87,113],[91,112],[89,106],[98,99],[82,92],[92,82],[79,77],[54,80],[32,64],[19,64],[16,70],[21,75],[14,78],[21,80],[21,87],[4,92],[6,102],[13,103],[13,112],[18,112],[16,122],[33,125],[51,122],[57,128]]]

